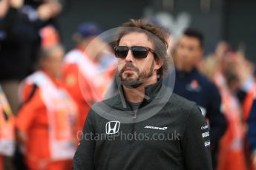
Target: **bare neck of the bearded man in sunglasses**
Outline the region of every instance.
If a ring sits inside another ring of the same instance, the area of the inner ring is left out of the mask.
[[[125,98],[131,103],[141,103],[145,98],[145,86],[157,83],[157,73],[155,72],[150,78],[143,81],[140,86],[136,88],[123,86],[125,92]]]

